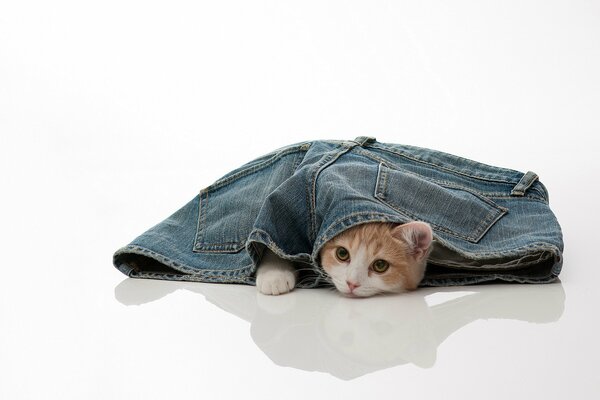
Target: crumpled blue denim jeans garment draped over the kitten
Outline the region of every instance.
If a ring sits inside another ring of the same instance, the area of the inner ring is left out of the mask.
[[[562,266],[548,192],[522,173],[419,147],[313,141],[230,172],[114,255],[128,276],[254,284],[265,246],[323,283],[323,244],[352,226],[426,221],[434,247],[422,286],[545,283]]]

